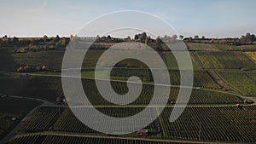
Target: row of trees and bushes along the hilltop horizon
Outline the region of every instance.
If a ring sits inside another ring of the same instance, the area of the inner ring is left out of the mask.
[[[77,37],[77,36],[75,36]],[[73,39],[73,35],[70,37],[7,37],[3,36],[0,38],[0,47],[15,47],[16,53],[24,53],[30,51],[40,51],[40,50],[52,50],[57,48],[66,48],[67,44]],[[164,50],[163,46],[164,42],[170,42],[173,40],[183,40],[184,42],[190,43],[223,43],[230,45],[243,45],[243,44],[253,44],[256,41],[256,37],[254,34],[247,32],[246,35],[242,35],[241,37],[227,37],[227,38],[207,38],[205,36],[199,37],[195,35],[195,37],[184,37],[183,35],[172,35],[164,37],[156,37],[152,38],[147,35],[146,32],[137,33],[134,37],[111,37],[110,35],[106,36],[96,36],[95,43],[121,43],[126,41],[136,41],[140,43],[148,44],[152,46],[154,49]],[[98,45],[97,45],[98,46]],[[93,48],[92,48],[93,49]]]

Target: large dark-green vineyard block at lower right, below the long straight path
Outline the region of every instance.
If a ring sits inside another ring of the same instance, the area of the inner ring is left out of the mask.
[[[173,123],[172,108],[160,116],[164,135],[201,141],[256,142],[256,107],[187,107]]]

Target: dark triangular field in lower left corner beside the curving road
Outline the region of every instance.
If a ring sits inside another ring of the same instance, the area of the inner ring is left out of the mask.
[[[41,101],[0,97],[0,139],[8,134],[10,130],[14,129],[15,125],[20,122],[21,118],[23,118],[26,113],[40,104],[42,104]],[[17,120],[12,121],[11,118],[17,118]]]

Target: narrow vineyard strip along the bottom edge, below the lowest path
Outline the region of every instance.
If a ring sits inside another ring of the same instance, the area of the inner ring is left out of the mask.
[[[93,138],[65,135],[26,135],[15,138],[7,144],[178,144],[176,142],[127,140],[122,138]]]

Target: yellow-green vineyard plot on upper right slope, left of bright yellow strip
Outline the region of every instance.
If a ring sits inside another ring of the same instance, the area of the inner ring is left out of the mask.
[[[195,57],[206,69],[256,69],[242,52],[196,52]]]

